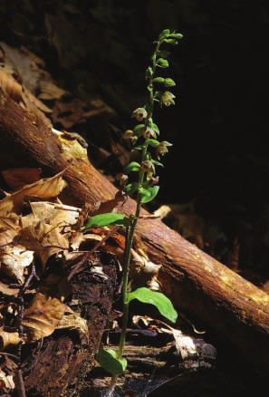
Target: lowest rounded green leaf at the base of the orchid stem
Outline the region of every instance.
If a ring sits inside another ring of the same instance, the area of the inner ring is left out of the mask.
[[[123,373],[127,367],[127,360],[117,358],[117,353],[112,349],[100,349],[96,354],[96,360],[103,369],[115,377]]]

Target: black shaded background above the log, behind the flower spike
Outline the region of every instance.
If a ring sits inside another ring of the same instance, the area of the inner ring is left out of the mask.
[[[159,202],[194,200],[224,244],[239,238],[241,267],[269,277],[267,2],[2,0],[0,12],[2,42],[24,45],[62,88],[116,111],[77,128],[107,150],[107,123],[120,140],[147,101],[152,42],[165,28],[184,34],[169,68],[176,106],[156,115],[162,139],[174,143]]]

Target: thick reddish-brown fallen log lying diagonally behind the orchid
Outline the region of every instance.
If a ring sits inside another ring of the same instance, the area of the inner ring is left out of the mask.
[[[67,204],[113,200],[117,189],[95,169],[77,140],[53,133],[42,118],[0,94],[1,169],[39,166],[50,175],[66,169]],[[91,156],[91,153],[90,153]],[[12,160],[11,160],[12,159]],[[19,160],[19,164],[17,162]],[[107,203],[107,205],[108,205]],[[128,199],[119,210],[134,212]],[[142,211],[146,215],[146,210]],[[162,265],[164,294],[240,349],[259,373],[269,367],[269,295],[180,237],[159,219],[140,219],[137,234],[149,259]]]

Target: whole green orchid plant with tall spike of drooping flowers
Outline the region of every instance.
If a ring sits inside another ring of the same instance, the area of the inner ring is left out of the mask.
[[[123,189],[125,194],[136,197],[137,199],[135,213],[131,214],[130,217],[113,212],[96,215],[89,218],[84,227],[86,231],[90,228],[117,225],[125,227],[127,230],[122,272],[123,317],[119,349],[116,352],[112,349],[101,349],[97,353],[97,361],[104,369],[111,373],[112,380],[114,381],[127,367],[127,360],[123,358],[123,352],[127,333],[129,304],[132,299],[138,299],[140,302],[155,305],[161,315],[166,316],[173,323],[177,319],[177,312],[167,296],[146,287],[140,287],[134,291],[129,290],[129,270],[131,247],[141,205],[148,203],[156,197],[159,191],[159,177],[156,175],[156,167],[162,166],[160,156],[166,154],[168,147],[171,146],[171,143],[167,140],[158,140],[159,128],[153,121],[153,111],[156,102],[159,102],[160,108],[175,104],[175,95],[168,90],[170,87],[176,85],[176,83],[168,77],[158,76],[159,69],[167,69],[169,66],[167,59],[169,52],[160,47],[162,44],[176,45],[181,38],[182,34],[170,33],[168,29],[165,29],[159,34],[158,41],[154,42],[156,47],[151,57],[151,65],[146,70],[149,102],[145,106],[133,111],[133,117],[139,121],[139,124],[133,130],[125,131],[123,136],[124,139],[130,140],[133,147],[132,150],[140,153],[139,162],[131,161],[125,167],[124,173],[118,176],[120,188]],[[130,181],[129,175],[134,175],[133,173],[137,174],[137,179]]]

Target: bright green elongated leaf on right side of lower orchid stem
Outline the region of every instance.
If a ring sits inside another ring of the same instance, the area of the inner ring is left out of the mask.
[[[149,288],[142,287],[128,294],[127,303],[132,299],[138,299],[144,304],[155,305],[159,309],[159,313],[161,315],[164,315],[172,323],[176,323],[178,314],[166,295],[163,295],[160,292],[151,291]]]

